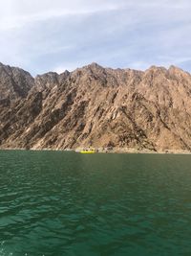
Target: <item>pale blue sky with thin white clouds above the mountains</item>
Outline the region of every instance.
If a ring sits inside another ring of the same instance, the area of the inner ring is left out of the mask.
[[[97,62],[191,72],[190,0],[6,0],[0,62],[33,76]]]

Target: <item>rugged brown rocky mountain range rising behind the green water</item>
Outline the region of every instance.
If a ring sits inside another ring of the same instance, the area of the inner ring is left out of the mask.
[[[96,63],[35,79],[0,64],[0,147],[191,151],[191,75]]]

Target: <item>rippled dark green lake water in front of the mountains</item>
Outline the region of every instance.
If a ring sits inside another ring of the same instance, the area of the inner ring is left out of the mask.
[[[0,256],[191,255],[191,156],[0,151]]]

